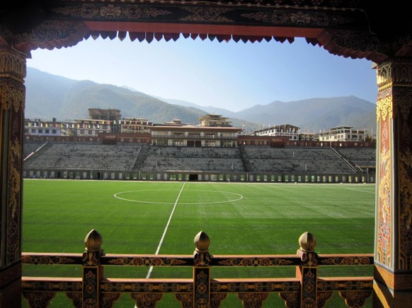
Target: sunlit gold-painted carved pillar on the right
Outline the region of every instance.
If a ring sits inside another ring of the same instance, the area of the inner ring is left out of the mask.
[[[412,302],[412,59],[377,69],[374,307]]]

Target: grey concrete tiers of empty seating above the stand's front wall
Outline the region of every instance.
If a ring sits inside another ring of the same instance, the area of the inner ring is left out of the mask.
[[[141,150],[144,155],[140,155],[137,164]],[[24,158],[33,153],[24,162],[24,168],[30,170],[245,172],[247,163],[248,172],[353,173],[353,168],[336,152],[358,166],[371,167],[375,164],[374,148],[200,148],[143,146],[143,143],[104,145],[97,142],[69,141],[25,141],[23,147]]]

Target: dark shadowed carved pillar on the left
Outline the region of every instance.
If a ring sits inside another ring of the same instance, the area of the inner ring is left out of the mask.
[[[0,307],[21,306],[22,154],[27,54],[0,46]]]

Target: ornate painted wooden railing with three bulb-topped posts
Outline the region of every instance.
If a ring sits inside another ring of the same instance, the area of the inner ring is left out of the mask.
[[[210,239],[203,231],[195,236],[192,255],[104,254],[96,230],[86,235],[83,254],[24,253],[24,264],[79,265],[81,278],[23,277],[22,292],[30,307],[47,307],[64,292],[74,307],[112,307],[122,293],[129,293],[137,307],[155,307],[165,293],[173,293],[182,307],[219,307],[235,293],[244,307],[261,307],[272,292],[287,307],[324,307],[333,292],[339,292],[349,307],[360,307],[372,294],[372,277],[320,278],[319,266],[372,266],[372,254],[322,254],[314,252],[316,239],[305,232],[294,255],[217,255],[209,252]],[[190,266],[193,278],[105,278],[106,266]],[[211,278],[217,266],[296,268],[292,278]]]

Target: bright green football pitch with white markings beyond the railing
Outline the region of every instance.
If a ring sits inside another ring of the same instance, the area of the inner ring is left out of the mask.
[[[154,254],[158,248],[159,254],[193,254],[193,238],[200,230],[210,236],[211,254],[295,254],[298,238],[306,231],[316,236],[319,254],[372,253],[374,189],[373,184],[25,179],[23,251],[81,253],[84,237],[94,228],[101,232],[108,254]],[[80,271],[64,266],[23,267],[24,276],[79,277]],[[105,276],[145,278],[147,271],[107,268]],[[372,268],[337,271],[372,276]],[[294,268],[275,273],[267,268],[213,268],[212,274],[216,278],[285,277],[294,276]],[[190,268],[154,268],[151,273],[151,278],[190,276]],[[50,307],[62,307],[63,298],[58,296]],[[283,304],[276,298],[271,295],[265,304]],[[234,302],[240,305],[231,297],[224,302],[227,307],[234,307]],[[130,297],[122,296],[115,307],[132,304]],[[166,296],[159,307],[179,305]]]

